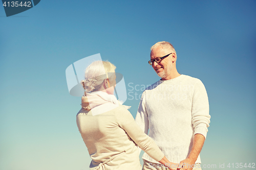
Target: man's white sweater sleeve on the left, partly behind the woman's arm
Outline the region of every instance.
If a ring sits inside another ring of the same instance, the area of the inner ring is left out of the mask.
[[[144,91],[141,95],[141,100],[138,108],[138,112],[135,118],[135,122],[139,125],[142,131],[148,133],[148,117],[145,107],[146,92]]]

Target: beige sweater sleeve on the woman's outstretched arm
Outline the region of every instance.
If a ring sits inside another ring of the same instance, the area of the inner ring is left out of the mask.
[[[116,117],[119,126],[144,152],[156,161],[160,161],[164,157],[164,154],[158,148],[155,141],[141,130],[127,109],[123,109],[122,113],[117,114]]]

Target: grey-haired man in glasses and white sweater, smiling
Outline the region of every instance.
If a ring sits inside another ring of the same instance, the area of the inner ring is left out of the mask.
[[[177,169],[201,169],[199,153],[210,123],[208,96],[199,79],[179,74],[176,61],[169,42],[151,47],[148,63],[161,79],[143,91],[136,122],[146,134],[150,129],[148,136],[168,160],[180,163]],[[142,158],[143,169],[165,169],[146,153]]]

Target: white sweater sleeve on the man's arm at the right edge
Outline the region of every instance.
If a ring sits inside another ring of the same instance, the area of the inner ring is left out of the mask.
[[[204,84],[200,80],[194,87],[192,123],[195,131],[194,135],[202,134],[206,138],[210,123],[209,102]]]

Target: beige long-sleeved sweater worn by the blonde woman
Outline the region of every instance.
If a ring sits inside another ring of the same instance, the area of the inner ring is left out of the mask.
[[[104,108],[104,104],[98,107]],[[103,163],[105,170],[141,169],[137,145],[156,161],[164,157],[123,106],[95,116],[92,111],[81,109],[77,114],[77,127],[92,158],[90,169],[102,166],[100,163],[115,155],[113,160]]]

